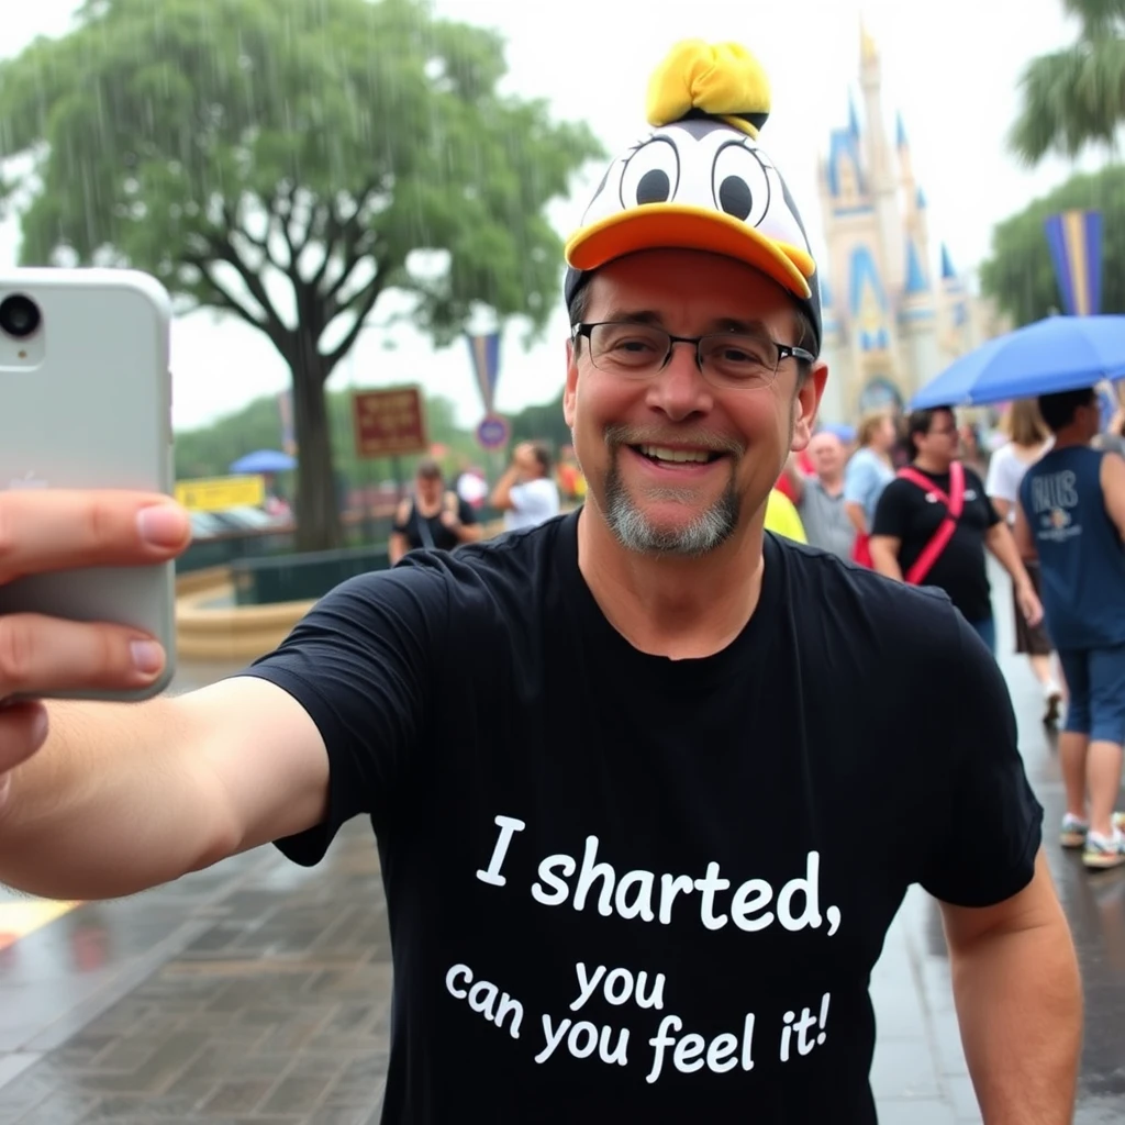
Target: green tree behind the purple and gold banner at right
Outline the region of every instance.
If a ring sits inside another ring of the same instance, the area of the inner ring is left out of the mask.
[[[1076,176],[992,231],[992,255],[981,266],[981,288],[1016,325],[1042,320],[1059,306],[1059,286],[1044,233],[1048,215],[1092,207],[1102,213],[1102,260],[1125,261],[1125,168]],[[1125,313],[1125,273],[1107,269],[1101,310]]]

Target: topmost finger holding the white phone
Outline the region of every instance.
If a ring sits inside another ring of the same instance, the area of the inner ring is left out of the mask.
[[[0,492],[0,583],[47,570],[152,565],[190,541],[187,513],[159,493]]]

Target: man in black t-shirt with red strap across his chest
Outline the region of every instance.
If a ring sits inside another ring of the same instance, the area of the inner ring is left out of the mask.
[[[996,622],[986,549],[1011,575],[1016,601],[1028,623],[1043,609],[1005,522],[992,507],[984,484],[957,460],[953,411],[915,411],[907,422],[912,451],[879,498],[871,537],[875,569],[898,582],[937,586],[996,652]]]

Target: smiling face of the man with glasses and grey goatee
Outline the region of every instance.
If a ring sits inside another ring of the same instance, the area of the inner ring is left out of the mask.
[[[740,330],[794,344],[791,299],[757,270],[686,250],[619,259],[588,282],[585,322],[636,322],[674,336]],[[702,555],[760,512],[791,449],[803,449],[824,389],[818,363],[799,386],[781,361],[766,386],[705,378],[691,344],[644,377],[568,349],[564,410],[590,495],[618,540],[646,554]]]

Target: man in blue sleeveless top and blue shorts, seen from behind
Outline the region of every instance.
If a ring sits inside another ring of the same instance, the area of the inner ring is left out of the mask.
[[[1059,738],[1062,844],[1101,871],[1125,865],[1125,814],[1114,816],[1125,742],[1125,460],[1090,448],[1100,429],[1095,388],[1044,395],[1040,413],[1055,441],[1019,484],[1016,540],[1038,556],[1070,691]]]

